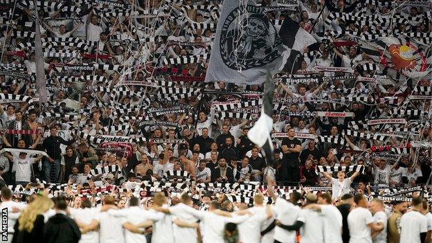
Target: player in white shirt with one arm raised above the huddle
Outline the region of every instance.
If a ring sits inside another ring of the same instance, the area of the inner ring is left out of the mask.
[[[267,185],[271,185],[271,180],[267,178]],[[271,199],[276,201],[274,210],[276,211],[276,219],[283,225],[293,225],[296,222],[300,207],[297,206],[297,201],[300,199],[300,193],[294,191],[289,195],[289,201],[276,197],[273,192],[273,186],[269,186],[269,195]],[[296,242],[296,231],[287,231],[280,226],[276,226],[275,242],[294,243]]]

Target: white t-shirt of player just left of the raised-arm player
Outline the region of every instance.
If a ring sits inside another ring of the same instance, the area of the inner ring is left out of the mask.
[[[242,224],[237,225],[240,242],[260,243],[261,225],[267,219],[267,214],[257,213]]]

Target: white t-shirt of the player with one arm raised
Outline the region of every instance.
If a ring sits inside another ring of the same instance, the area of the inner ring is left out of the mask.
[[[284,225],[293,225],[300,213],[300,208],[289,201],[278,198],[275,203],[276,219]],[[296,242],[296,231],[287,231],[279,226],[275,228],[275,240],[286,243]]]

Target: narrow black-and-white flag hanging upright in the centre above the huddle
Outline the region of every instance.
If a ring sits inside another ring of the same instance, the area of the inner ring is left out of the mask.
[[[261,115],[257,122],[248,132],[248,138],[252,143],[264,150],[267,164],[273,164],[273,143],[271,143],[271,130],[273,130],[273,93],[275,85],[270,73],[267,73],[266,83],[264,87],[264,97],[262,98]]]

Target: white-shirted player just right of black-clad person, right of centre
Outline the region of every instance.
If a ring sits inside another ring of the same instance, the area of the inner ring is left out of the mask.
[[[368,210],[368,201],[363,194],[354,196],[357,208],[348,215],[348,228],[350,229],[350,243],[372,243],[370,230],[381,231],[382,222],[374,223],[372,213]]]

